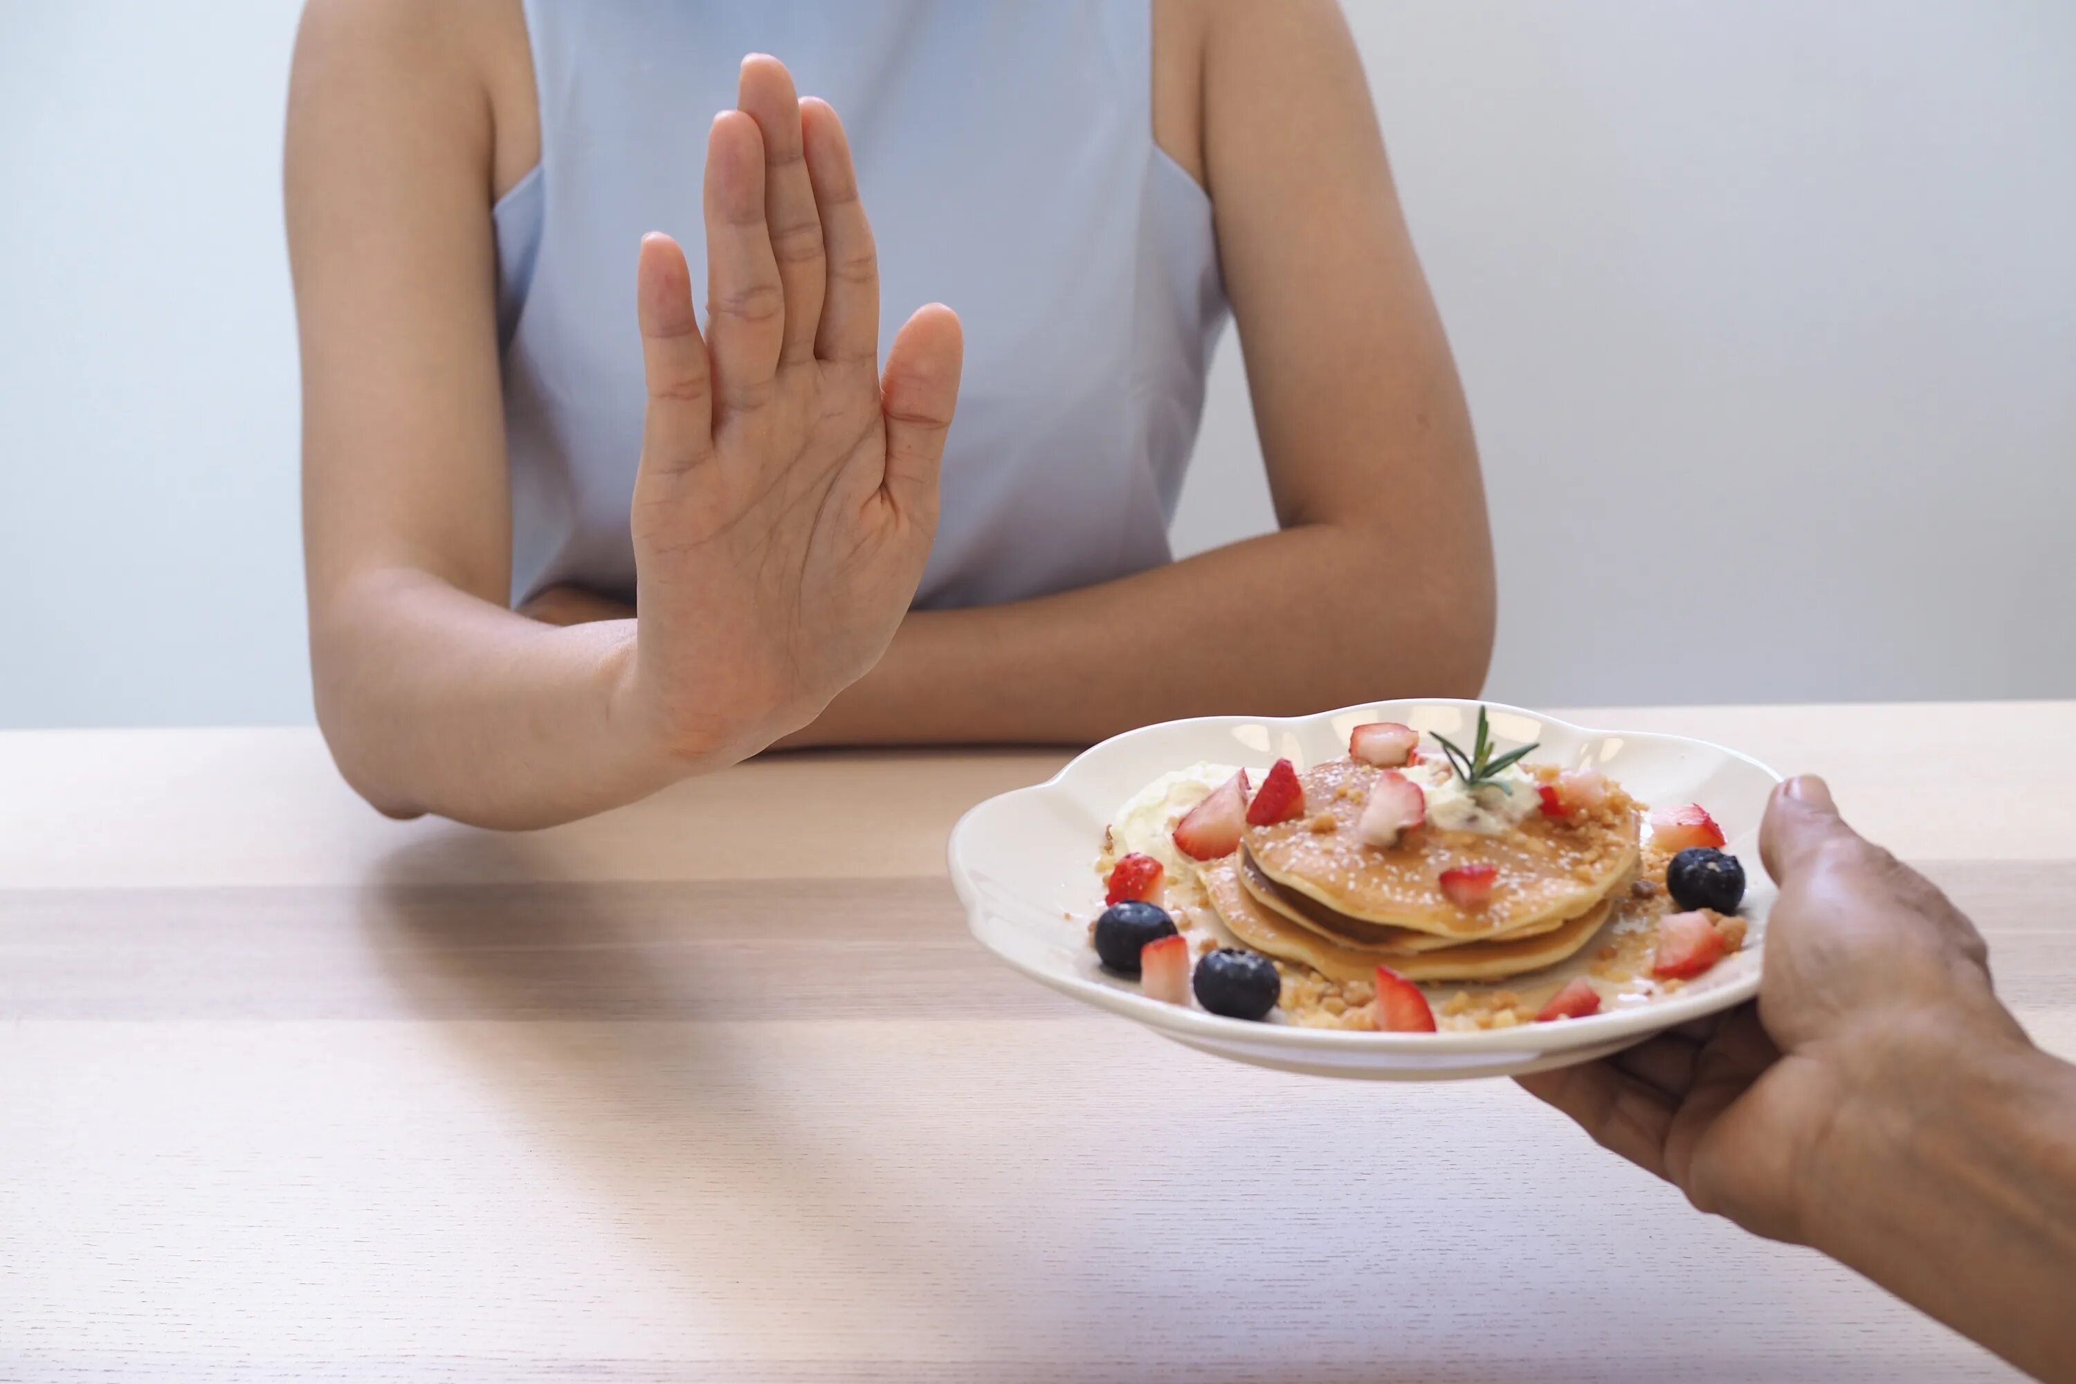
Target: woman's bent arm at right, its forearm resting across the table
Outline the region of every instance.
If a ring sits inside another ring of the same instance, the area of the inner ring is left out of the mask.
[[[1042,600],[913,612],[789,743],[1086,743],[1482,685],[1493,554],[1470,417],[1341,15],[1154,17],[1156,135],[1210,189],[1281,531]]]

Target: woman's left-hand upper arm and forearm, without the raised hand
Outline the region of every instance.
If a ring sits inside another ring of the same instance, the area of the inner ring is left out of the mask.
[[[284,191],[318,720],[376,807],[534,824],[664,782],[612,716],[631,622],[504,610],[486,6],[311,4]],[[523,50],[521,50],[523,52]]]

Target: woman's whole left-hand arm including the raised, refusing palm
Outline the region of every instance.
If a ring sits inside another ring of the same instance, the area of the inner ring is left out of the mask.
[[[928,556],[961,347],[926,307],[880,380],[843,129],[774,60],[745,62],[741,110],[708,135],[708,332],[668,237],[633,276],[639,616],[507,610],[482,71],[504,10],[311,4],[286,203],[318,720],[376,807],[523,828],[733,764],[872,666]]]

